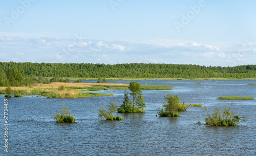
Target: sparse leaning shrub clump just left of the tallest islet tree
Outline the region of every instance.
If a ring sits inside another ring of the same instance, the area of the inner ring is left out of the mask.
[[[110,105],[108,106],[108,110],[104,107],[98,107],[99,109],[99,117],[105,120],[124,120],[122,117],[114,116],[114,113],[117,111],[117,103],[115,101],[111,101]]]

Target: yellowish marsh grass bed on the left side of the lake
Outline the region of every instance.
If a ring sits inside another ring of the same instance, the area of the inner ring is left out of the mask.
[[[81,91],[100,90],[129,90],[129,84],[123,83],[65,83],[52,82],[50,84],[40,84],[32,87],[12,87],[16,94],[20,95],[40,95],[49,98],[84,98],[93,96],[112,96],[113,94],[82,93]],[[168,85],[141,85],[142,90],[172,90],[174,86]],[[6,87],[0,87],[0,94],[7,94]]]

